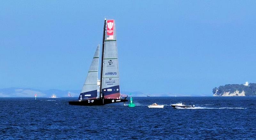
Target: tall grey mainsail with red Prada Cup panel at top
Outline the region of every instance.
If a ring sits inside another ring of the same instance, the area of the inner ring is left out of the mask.
[[[105,22],[101,96],[120,99],[115,20]]]

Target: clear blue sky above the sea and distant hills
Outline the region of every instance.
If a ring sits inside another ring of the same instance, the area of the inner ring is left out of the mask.
[[[256,1],[0,1],[0,88],[82,89],[104,18],[121,92],[256,82]]]

